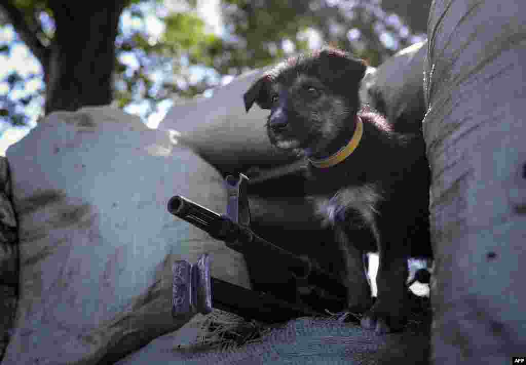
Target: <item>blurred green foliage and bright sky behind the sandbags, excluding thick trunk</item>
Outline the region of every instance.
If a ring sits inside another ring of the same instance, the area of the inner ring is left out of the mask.
[[[0,0],[3,130],[34,125],[43,116],[47,81],[38,53],[54,44],[58,14],[53,9],[60,12],[59,3]],[[113,103],[155,128],[174,101],[209,97],[215,87],[248,69],[271,65],[324,43],[377,66],[397,50],[426,38],[430,0],[417,5],[411,0],[120,3]],[[107,6],[100,4],[97,6]],[[76,29],[63,32],[75,37]]]

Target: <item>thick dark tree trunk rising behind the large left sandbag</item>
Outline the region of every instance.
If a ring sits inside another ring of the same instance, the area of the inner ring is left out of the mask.
[[[112,101],[115,37],[126,1],[51,1],[56,34],[44,65],[46,114]]]

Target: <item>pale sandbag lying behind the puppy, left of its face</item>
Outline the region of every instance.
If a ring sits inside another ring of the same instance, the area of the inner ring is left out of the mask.
[[[223,174],[295,160],[295,155],[277,150],[268,141],[265,123],[269,111],[245,110],[243,94],[262,72],[247,72],[216,89],[210,98],[177,103],[158,128],[181,133],[182,142]]]

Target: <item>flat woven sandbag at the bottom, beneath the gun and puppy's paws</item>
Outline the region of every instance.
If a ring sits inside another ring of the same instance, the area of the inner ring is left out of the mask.
[[[116,365],[426,365],[428,333],[406,330],[378,336],[357,325],[302,317],[231,350],[188,351],[174,348],[168,336],[159,337]]]

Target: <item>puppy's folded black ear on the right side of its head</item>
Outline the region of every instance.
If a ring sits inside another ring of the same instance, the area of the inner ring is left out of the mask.
[[[367,69],[364,60],[352,57],[349,53],[337,48],[326,47],[319,53],[322,73],[328,79],[340,79],[359,82]]]

